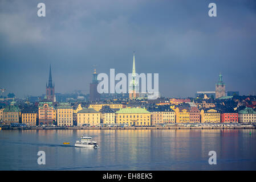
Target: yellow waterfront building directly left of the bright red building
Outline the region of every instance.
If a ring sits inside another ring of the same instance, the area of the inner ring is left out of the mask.
[[[201,110],[201,123],[220,123],[221,113],[216,109]]]

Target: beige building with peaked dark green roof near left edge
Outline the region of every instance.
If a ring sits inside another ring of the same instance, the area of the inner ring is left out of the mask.
[[[21,117],[21,109],[15,105],[15,101],[12,101],[10,105],[3,110],[3,123],[10,125],[11,123],[19,123]]]

